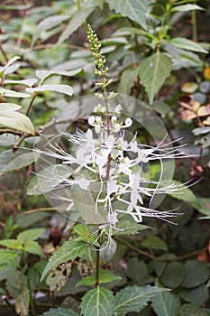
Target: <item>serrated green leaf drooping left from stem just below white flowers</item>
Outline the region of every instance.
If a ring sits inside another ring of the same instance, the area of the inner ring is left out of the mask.
[[[45,269],[41,275],[41,281],[58,265],[66,263],[69,260],[75,260],[78,256],[82,257],[87,254],[87,251],[88,246],[83,241],[66,241],[52,254],[52,256],[50,256],[49,263],[45,266]]]

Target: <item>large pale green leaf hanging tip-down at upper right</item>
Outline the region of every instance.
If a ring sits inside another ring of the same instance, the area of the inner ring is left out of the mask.
[[[139,75],[142,85],[148,93],[150,103],[152,103],[156,92],[163,85],[165,79],[169,77],[171,70],[172,62],[170,58],[160,51],[142,60]]]

